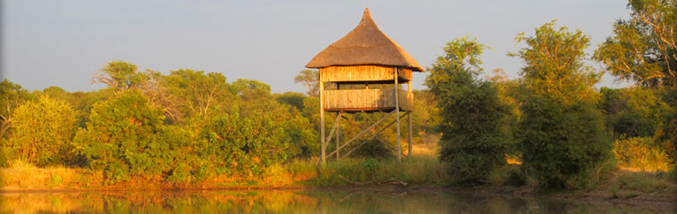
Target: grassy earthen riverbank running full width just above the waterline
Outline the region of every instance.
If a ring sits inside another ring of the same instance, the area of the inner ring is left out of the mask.
[[[0,169],[0,193],[158,190],[265,190],[265,189],[358,189],[461,191],[510,194],[519,197],[554,197],[582,201],[624,202],[677,206],[677,183],[665,172],[641,172],[614,168],[608,177],[598,177],[582,190],[538,193],[533,181],[510,185],[512,164],[497,170],[487,185],[448,187],[444,164],[437,161],[434,145],[414,147],[412,158],[395,160],[343,159],[320,167],[316,159],[293,160],[273,165],[261,175],[213,176],[200,182],[169,183],[157,177],[133,177],[104,185],[101,171],[63,167],[41,169],[23,161],[12,161]],[[402,182],[402,183],[399,183]]]

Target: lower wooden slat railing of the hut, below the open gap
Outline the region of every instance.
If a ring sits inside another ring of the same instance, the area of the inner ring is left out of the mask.
[[[324,111],[392,111],[394,89],[325,90]],[[400,111],[413,110],[413,93],[399,90]]]

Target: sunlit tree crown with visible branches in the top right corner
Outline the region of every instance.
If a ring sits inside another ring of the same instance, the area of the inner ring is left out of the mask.
[[[677,1],[630,0],[628,8],[630,20],[616,21],[593,59],[618,78],[677,90]]]

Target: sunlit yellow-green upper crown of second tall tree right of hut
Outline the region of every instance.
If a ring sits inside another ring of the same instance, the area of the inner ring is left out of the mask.
[[[579,100],[596,100],[592,90],[601,77],[591,66],[586,66],[584,50],[590,45],[590,37],[580,29],[570,32],[566,26],[555,29],[551,21],[536,29],[534,37],[520,33],[515,38],[526,47],[508,55],[521,58],[526,66],[520,75],[526,93],[535,93],[560,99],[564,103]],[[525,92],[523,92],[525,93]]]

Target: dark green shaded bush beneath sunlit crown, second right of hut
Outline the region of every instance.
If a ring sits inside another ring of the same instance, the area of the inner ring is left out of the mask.
[[[580,184],[590,169],[607,160],[611,144],[602,116],[590,102],[566,105],[531,95],[522,105],[518,149],[522,167],[533,171],[542,189]],[[577,181],[571,181],[572,178]]]

